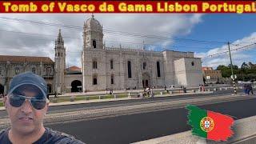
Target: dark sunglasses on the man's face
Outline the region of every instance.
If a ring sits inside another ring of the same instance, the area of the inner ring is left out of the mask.
[[[9,99],[10,105],[14,107],[22,106],[26,99],[28,99],[36,110],[42,110],[46,106],[46,102],[48,102],[46,98],[26,97],[20,94],[10,94]]]

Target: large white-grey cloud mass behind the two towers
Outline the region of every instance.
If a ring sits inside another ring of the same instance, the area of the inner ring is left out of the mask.
[[[90,18],[90,14],[2,14],[2,17],[82,27],[86,19]],[[202,14],[95,14],[95,18],[103,25],[103,31],[114,30],[144,35],[161,35],[169,38],[190,34],[193,27],[202,21]],[[44,26],[2,18],[0,27],[0,30],[34,34],[1,31],[0,54],[46,56],[53,60],[54,40],[57,38],[58,29],[62,29],[66,46],[66,65],[81,66],[82,28]],[[174,43],[172,38],[138,38],[106,32],[104,34],[104,41],[106,41],[107,46],[119,46],[121,44],[123,47],[137,49],[142,48],[143,41],[162,46]],[[155,50],[158,46],[149,47]]]

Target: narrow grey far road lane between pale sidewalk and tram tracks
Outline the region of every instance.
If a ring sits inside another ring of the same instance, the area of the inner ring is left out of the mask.
[[[85,104],[76,104],[76,105],[66,105],[66,106],[50,106],[48,113],[58,113],[64,111],[75,111],[75,110],[91,110],[91,109],[99,109],[106,107],[114,107],[114,106],[130,106],[130,105],[138,105],[141,103],[150,103],[150,102],[163,102],[163,101],[174,101],[174,100],[182,100],[187,98],[205,98],[209,96],[214,96],[218,94],[232,94],[233,90],[218,90],[214,91],[211,94],[190,94],[184,96],[173,96],[173,97],[164,97],[164,98],[142,98],[142,99],[131,99],[126,101],[114,101],[114,102],[94,102],[94,103],[85,103]],[[6,110],[0,110],[0,117],[6,118],[7,113]]]

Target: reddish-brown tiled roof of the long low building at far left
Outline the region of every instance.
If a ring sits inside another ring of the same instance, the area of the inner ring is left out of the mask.
[[[15,55],[0,55],[0,62],[50,62],[54,63],[49,57],[30,57]]]

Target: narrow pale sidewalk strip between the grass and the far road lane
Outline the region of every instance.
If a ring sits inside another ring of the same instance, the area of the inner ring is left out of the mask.
[[[213,91],[204,91],[204,92],[196,92],[196,93],[178,93],[178,94],[162,94],[162,95],[155,95],[154,98],[161,98],[161,97],[172,97],[172,96],[182,96],[182,95],[192,95],[192,94],[210,94]],[[146,97],[150,98],[150,97]],[[75,102],[58,102],[58,103],[50,103],[50,106],[65,106],[65,105],[75,105],[75,104],[82,104],[82,103],[94,103],[94,102],[114,102],[114,101],[125,101],[130,99],[142,99],[142,98],[106,98],[106,99],[92,99],[92,100],[81,100]],[[4,106],[0,107],[0,110],[6,110]]]

